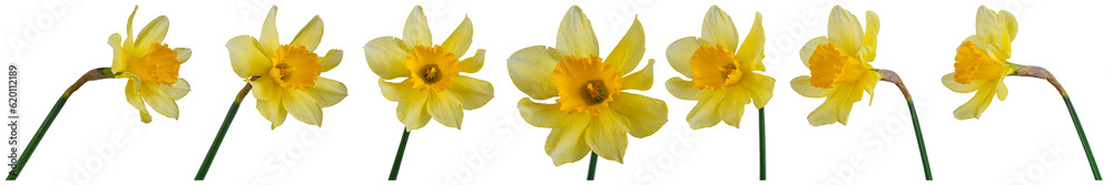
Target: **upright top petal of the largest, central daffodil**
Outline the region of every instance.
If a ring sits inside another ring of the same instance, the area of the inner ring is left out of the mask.
[[[591,29],[591,20],[588,20],[588,16],[578,6],[569,8],[560,21],[560,28],[556,29],[556,51],[561,56],[599,55],[599,40],[595,40],[595,31]]]

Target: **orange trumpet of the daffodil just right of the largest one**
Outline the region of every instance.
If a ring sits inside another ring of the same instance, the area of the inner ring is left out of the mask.
[[[700,90],[722,90],[723,85],[735,84],[742,76],[738,59],[721,44],[700,45],[688,64],[692,68],[692,81]]]

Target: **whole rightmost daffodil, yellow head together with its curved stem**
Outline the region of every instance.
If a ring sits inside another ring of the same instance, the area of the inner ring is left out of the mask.
[[[1102,174],[1097,169],[1094,154],[1090,150],[1090,142],[1082,130],[1082,123],[1074,111],[1071,97],[1066,95],[1066,90],[1046,69],[1035,65],[1021,65],[1009,62],[1012,58],[1012,42],[1016,39],[1017,23],[1016,17],[1008,11],[994,11],[985,6],[978,7],[975,21],[975,34],[964,40],[956,50],[955,72],[943,75],[943,84],[951,91],[958,93],[975,92],[974,97],[955,110],[955,119],[967,120],[978,119],[982,112],[993,102],[993,96],[1005,101],[1008,89],[1005,88],[1005,76],[1020,75],[1044,79],[1050,82],[1063,101],[1074,121],[1074,127],[1082,141],[1083,150],[1086,152],[1086,160],[1090,161],[1090,169],[1094,179],[1102,181]]]

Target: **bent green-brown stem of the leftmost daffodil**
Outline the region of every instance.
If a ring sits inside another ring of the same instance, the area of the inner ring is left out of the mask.
[[[106,71],[107,74],[105,73]],[[27,161],[31,160],[31,154],[35,154],[35,148],[39,146],[39,142],[42,142],[42,136],[47,134],[47,130],[50,129],[50,124],[55,122],[55,117],[58,117],[58,113],[62,111],[62,106],[66,105],[66,101],[69,100],[70,95],[73,94],[85,82],[108,79],[115,76],[107,68],[98,68],[89,70],[85,75],[81,75],[77,82],[73,82],[66,92],[62,92],[62,96],[58,97],[55,102],[55,106],[50,109],[50,113],[47,113],[47,117],[42,120],[42,125],[39,125],[39,131],[35,132],[35,136],[31,136],[31,142],[27,143],[27,148],[23,150],[23,154],[19,155],[19,161],[16,162],[16,168],[8,173],[7,181],[16,181],[19,174],[23,172],[23,166],[27,165]]]

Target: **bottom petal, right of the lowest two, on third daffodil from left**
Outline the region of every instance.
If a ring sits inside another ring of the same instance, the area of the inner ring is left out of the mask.
[[[460,130],[460,124],[464,122],[464,107],[460,103],[460,96],[443,92],[430,94],[425,111],[437,123]]]

